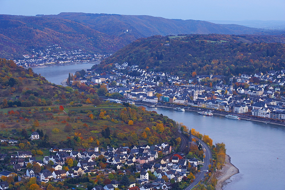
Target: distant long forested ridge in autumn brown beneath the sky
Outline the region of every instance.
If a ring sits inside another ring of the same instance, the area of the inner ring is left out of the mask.
[[[44,51],[46,46],[54,44],[58,44],[62,51],[82,49],[90,53],[114,53],[138,38],[153,35],[269,34],[268,31],[236,24],[146,15],[0,15],[0,57],[23,58],[25,54],[32,54],[33,49]],[[271,34],[272,30],[269,32]]]

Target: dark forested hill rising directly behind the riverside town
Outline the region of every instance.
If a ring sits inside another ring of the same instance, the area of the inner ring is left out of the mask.
[[[132,42],[95,67],[106,70],[113,63],[128,62],[129,66],[139,65],[140,69],[179,76],[190,76],[194,71],[198,75],[250,75],[284,69],[284,39],[284,36],[221,34],[184,38],[152,36]]]

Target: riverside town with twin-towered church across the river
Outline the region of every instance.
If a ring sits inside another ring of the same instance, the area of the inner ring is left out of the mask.
[[[136,73],[137,76],[120,72],[124,70]],[[281,96],[284,93],[285,70],[230,78],[196,75],[194,72],[193,78],[180,79],[177,75],[147,71],[139,69],[137,65],[128,66],[128,63],[116,63],[115,69],[109,73],[99,74],[87,69],[84,77],[70,80],[69,85],[105,84],[107,96],[119,93],[118,98],[137,103],[204,108],[255,118],[285,120],[285,98]]]

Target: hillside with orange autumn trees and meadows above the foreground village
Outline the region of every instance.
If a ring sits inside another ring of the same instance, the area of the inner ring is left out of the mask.
[[[0,70],[1,139],[9,136],[27,143],[32,131],[39,131],[40,140],[32,141],[34,147],[177,144],[175,121],[144,107],[101,102],[97,92],[105,86],[78,84],[79,92],[51,84],[32,69],[6,59],[0,59]],[[12,129],[17,133],[11,133]],[[2,150],[17,148],[1,146]]]

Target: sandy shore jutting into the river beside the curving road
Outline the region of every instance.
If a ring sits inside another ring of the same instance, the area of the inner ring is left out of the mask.
[[[232,175],[238,174],[239,169],[237,169],[232,163],[231,163],[231,157],[226,154],[226,164],[223,167],[222,170],[219,170],[216,172],[215,176],[218,179],[216,189],[223,189],[223,185],[226,184],[226,180],[229,179]]]

